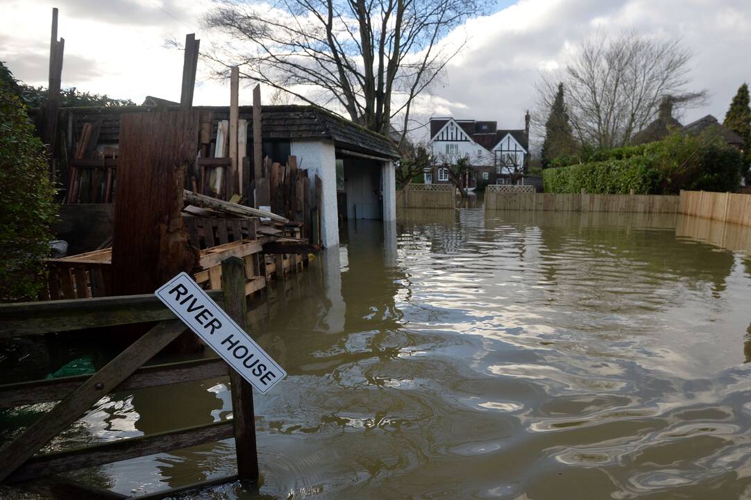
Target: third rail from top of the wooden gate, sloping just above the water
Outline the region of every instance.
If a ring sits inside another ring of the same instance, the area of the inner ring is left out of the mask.
[[[47,453],[30,459],[18,468],[11,477],[8,477],[8,480],[10,482],[29,480],[33,477],[60,474],[79,468],[94,467],[154,453],[164,453],[170,450],[198,446],[199,444],[213,443],[231,438],[232,427],[233,423],[225,420],[138,438],[95,444],[77,450]]]

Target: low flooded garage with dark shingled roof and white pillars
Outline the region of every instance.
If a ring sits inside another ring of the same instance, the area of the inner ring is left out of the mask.
[[[95,149],[116,150],[123,113],[179,109],[167,102],[156,105],[107,108],[62,108],[75,136],[84,123],[98,127]],[[227,106],[194,106],[194,111],[210,112],[213,130],[220,120],[228,120]],[[285,164],[297,156],[298,168],[321,179],[321,241],[324,247],[339,244],[339,217],[396,220],[394,161],[399,153],[385,136],[371,132],[339,115],[311,105],[261,107],[263,156]],[[246,120],[247,157],[252,158],[252,107],[240,106],[240,120]],[[216,137],[216,132],[213,132]],[[72,144],[72,143],[71,143]],[[337,176],[337,171],[340,175]],[[342,195],[337,199],[337,191]],[[338,205],[342,204],[342,207]],[[110,208],[111,209],[111,208]]]

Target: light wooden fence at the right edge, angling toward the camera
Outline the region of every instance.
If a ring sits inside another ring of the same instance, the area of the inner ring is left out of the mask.
[[[751,226],[751,195],[733,192],[681,191],[680,214]]]

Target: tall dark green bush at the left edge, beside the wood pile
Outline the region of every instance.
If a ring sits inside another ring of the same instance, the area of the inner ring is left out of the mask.
[[[0,193],[0,301],[35,298],[47,273],[55,188],[44,145],[6,83],[0,83]]]

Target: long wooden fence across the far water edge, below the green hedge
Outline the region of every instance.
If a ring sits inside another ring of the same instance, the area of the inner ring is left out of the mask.
[[[525,186],[520,186],[525,187]],[[485,210],[556,212],[636,212],[675,214],[678,196],[669,195],[590,195],[584,192],[486,192]]]

